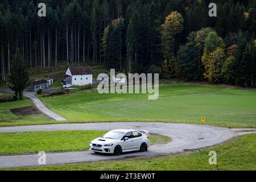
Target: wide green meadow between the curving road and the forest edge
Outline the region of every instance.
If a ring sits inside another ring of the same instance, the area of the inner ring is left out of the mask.
[[[158,100],[147,94],[99,94],[90,90],[40,100],[68,122],[156,121],[201,123],[209,125],[256,127],[256,92],[249,89],[195,84],[170,84],[159,87]],[[26,101],[27,102],[27,101]],[[0,104],[0,112],[9,112]],[[46,118],[15,120],[2,114],[0,126],[60,123]],[[8,122],[11,121],[11,122]],[[64,123],[64,122],[61,122]]]

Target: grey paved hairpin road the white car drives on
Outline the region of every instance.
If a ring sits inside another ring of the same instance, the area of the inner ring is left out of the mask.
[[[46,164],[67,164],[92,162],[99,160],[130,158],[133,156],[154,156],[160,154],[175,154],[189,150],[196,150],[219,144],[239,135],[236,131],[223,127],[208,125],[195,125],[184,123],[143,123],[143,122],[117,122],[117,123],[79,123],[38,126],[0,127],[0,132],[18,131],[55,131],[55,130],[113,130],[113,129],[144,129],[150,133],[162,134],[172,138],[172,142],[152,146],[148,152],[133,152],[120,156],[96,155],[90,151],[62,152],[46,155]],[[0,168],[39,166],[39,156],[14,155],[0,156]]]

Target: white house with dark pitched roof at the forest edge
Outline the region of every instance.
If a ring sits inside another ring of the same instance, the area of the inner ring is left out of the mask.
[[[90,67],[68,67],[63,76],[65,85],[83,86],[93,83],[92,68]]]

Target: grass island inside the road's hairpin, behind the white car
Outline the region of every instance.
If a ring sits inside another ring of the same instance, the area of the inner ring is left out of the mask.
[[[106,131],[28,131],[0,133],[0,155],[33,154],[39,151],[63,152],[83,151],[89,143]],[[151,144],[170,142],[163,135],[150,135]]]

